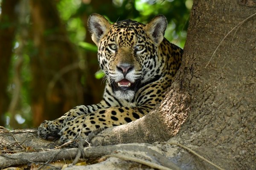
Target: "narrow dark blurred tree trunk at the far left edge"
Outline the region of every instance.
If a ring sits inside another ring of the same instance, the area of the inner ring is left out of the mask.
[[[15,7],[19,0],[3,0],[0,15],[0,125],[4,125],[3,113],[9,106],[9,97],[6,92],[9,66],[12,57],[13,40],[17,26]]]

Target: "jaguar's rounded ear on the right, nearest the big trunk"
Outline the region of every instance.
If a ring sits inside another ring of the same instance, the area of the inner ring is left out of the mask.
[[[166,26],[167,20],[163,15],[157,15],[145,26],[146,33],[157,46],[163,41]]]

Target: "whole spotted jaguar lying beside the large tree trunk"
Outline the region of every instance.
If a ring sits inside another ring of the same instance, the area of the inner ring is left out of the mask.
[[[102,15],[91,14],[88,29],[106,78],[103,99],[96,105],[79,105],[53,121],[45,120],[38,135],[69,142],[140,119],[155,108],[171,86],[183,54],[164,38],[166,26],[163,15],[147,24],[133,20],[111,24]]]

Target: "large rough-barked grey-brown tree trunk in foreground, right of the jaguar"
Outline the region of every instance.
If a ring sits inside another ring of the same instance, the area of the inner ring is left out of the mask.
[[[255,12],[232,0],[195,0],[172,85],[191,96],[191,113],[174,140],[224,169],[256,169]]]

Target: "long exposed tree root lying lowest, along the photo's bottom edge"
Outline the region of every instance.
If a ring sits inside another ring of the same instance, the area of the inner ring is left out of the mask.
[[[0,168],[35,162],[46,162],[48,164],[56,160],[74,159],[77,153],[79,153],[79,150],[78,148],[64,148],[61,150],[48,150],[35,153],[2,154],[0,155],[0,162],[2,162]],[[79,154],[79,157],[113,156],[136,161],[157,169],[178,170],[179,168],[161,152],[161,150],[151,144],[118,144],[112,146],[85,147],[82,150],[82,154]]]

